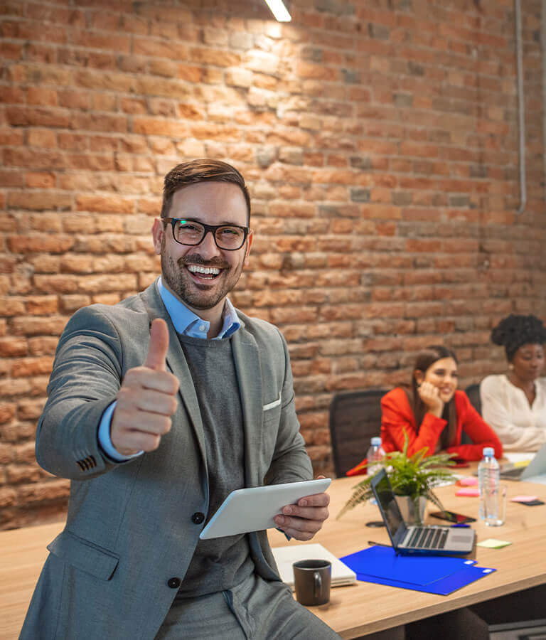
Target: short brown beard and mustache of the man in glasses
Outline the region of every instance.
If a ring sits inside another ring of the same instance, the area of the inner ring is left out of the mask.
[[[164,249],[164,247],[162,247]],[[187,265],[202,265],[203,267],[218,267],[221,271],[218,278],[223,284],[218,287],[215,279],[210,284],[198,284],[193,281],[187,270]],[[235,287],[242,273],[244,260],[237,267],[230,267],[221,260],[203,260],[198,254],[184,255],[174,262],[170,255],[161,252],[161,272],[164,281],[171,291],[181,301],[193,309],[213,309]],[[218,287],[218,288],[217,288]],[[215,289],[212,291],[211,289]]]

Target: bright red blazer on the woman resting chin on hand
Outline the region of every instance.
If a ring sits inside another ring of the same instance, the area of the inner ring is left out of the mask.
[[[503,455],[503,445],[491,427],[483,422],[481,415],[471,405],[464,391],[455,392],[457,428],[455,440],[447,447],[448,453],[454,453],[464,460],[481,460],[483,447],[493,447],[495,457]],[[410,400],[405,390],[396,388],[385,394],[381,400],[381,440],[385,453],[402,451],[404,448],[404,430],[408,436],[407,454],[412,455],[423,447],[429,447],[427,456],[434,454],[436,443],[446,420],[425,413],[417,434]],[[474,444],[461,444],[461,434],[469,435]]]

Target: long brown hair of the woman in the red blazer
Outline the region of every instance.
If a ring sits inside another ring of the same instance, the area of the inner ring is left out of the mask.
[[[412,386],[411,390],[406,390],[410,405],[412,405],[412,411],[415,418],[415,425],[417,427],[417,434],[423,421],[425,413],[427,413],[427,405],[421,400],[418,391],[417,380],[415,379],[415,372],[422,371],[423,375],[427,369],[435,362],[442,358],[453,358],[457,363],[457,357],[451,349],[444,347],[443,345],[433,344],[427,346],[422,351],[417,353],[415,358],[415,365],[412,371]],[[456,444],[455,436],[457,430],[457,410],[455,407],[455,395],[449,402],[444,405],[444,411],[441,414],[444,420],[447,420],[447,425],[440,434],[440,449],[446,449],[447,447]],[[434,452],[432,452],[434,453]]]

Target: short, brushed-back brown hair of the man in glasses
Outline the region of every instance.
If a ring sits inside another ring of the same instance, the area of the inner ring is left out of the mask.
[[[190,162],[177,164],[174,169],[165,176],[163,187],[163,204],[161,205],[161,218],[168,218],[173,193],[191,184],[200,182],[230,182],[236,184],[245,196],[247,203],[247,225],[250,224],[250,196],[245,184],[245,178],[227,162],[199,158]]]

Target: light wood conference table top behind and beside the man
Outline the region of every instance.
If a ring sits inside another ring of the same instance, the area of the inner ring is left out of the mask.
[[[368,547],[368,540],[388,542],[385,528],[365,526],[368,521],[380,519],[377,506],[358,506],[336,521],[335,516],[356,481],[358,479],[341,478],[332,482],[329,489],[331,516],[313,540],[338,558]],[[342,638],[350,639],[546,584],[546,505],[524,506],[510,502],[510,497],[518,494],[531,494],[546,501],[546,485],[510,481],[505,484],[508,486],[505,525],[489,528],[479,521],[472,525],[478,541],[501,538],[512,543],[498,550],[476,548],[478,565],[494,567],[496,572],[449,596],[357,582],[349,587],[334,588],[330,602],[321,607],[310,607],[311,611]],[[477,516],[478,498],[456,497],[455,491],[456,486],[437,489],[444,507]],[[63,523],[59,522],[0,532],[0,637],[3,640],[18,637],[41,566],[47,557],[45,545],[62,528]],[[270,531],[269,540],[272,546],[287,544],[284,536],[275,530]],[[289,544],[302,543],[292,540]]]

